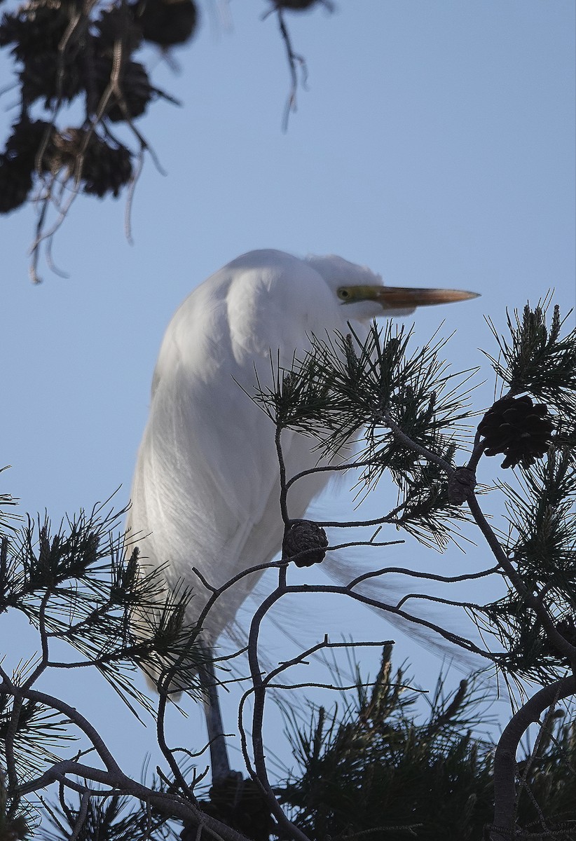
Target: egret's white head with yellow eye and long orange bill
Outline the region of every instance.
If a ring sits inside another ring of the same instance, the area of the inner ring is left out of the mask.
[[[351,318],[357,320],[378,315],[408,315],[416,307],[478,298],[478,293],[460,289],[384,286],[379,274],[334,255],[310,255],[306,262],[325,279],[341,304],[350,307]]]

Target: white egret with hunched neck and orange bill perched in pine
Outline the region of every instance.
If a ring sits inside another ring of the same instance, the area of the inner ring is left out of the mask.
[[[152,381],[148,423],[132,487],[129,528],[144,536],[143,563],[166,565],[171,588],[193,588],[187,620],[209,597],[194,566],[219,587],[244,569],[272,560],[282,544],[274,426],[249,399],[255,369],[270,377],[270,355],[290,367],[310,336],[346,334],[378,315],[405,315],[422,304],[475,297],[441,289],[383,286],[368,268],[341,257],[251,251],[201,283],[168,325]],[[242,389],[246,389],[246,392]],[[314,466],[310,439],[283,436],[288,476]],[[304,516],[326,473],[290,494],[290,516]],[[330,563],[330,558],[325,563]],[[203,624],[215,643],[259,577],[241,579]]]

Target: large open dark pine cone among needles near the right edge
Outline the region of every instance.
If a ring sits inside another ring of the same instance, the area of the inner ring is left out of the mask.
[[[527,394],[496,400],[478,425],[478,432],[484,436],[484,452],[487,456],[504,453],[503,468],[517,464],[530,467],[547,451],[552,436],[552,421],[547,414],[547,407],[543,403],[534,405]]]

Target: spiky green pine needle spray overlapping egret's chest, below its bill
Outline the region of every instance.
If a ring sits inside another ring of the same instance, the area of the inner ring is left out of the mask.
[[[440,356],[446,341],[433,337],[412,349],[411,339],[411,331],[392,322],[374,322],[365,341],[353,332],[314,337],[311,350],[289,370],[277,363],[272,387],[258,383],[251,396],[280,432],[313,437],[319,457],[337,453],[361,465],[364,493],[380,479],[392,479],[401,495],[394,525],[443,549],[467,518],[448,499],[441,463],[455,466],[464,443],[473,372],[449,371]],[[425,452],[407,447],[405,436]],[[356,450],[350,444],[355,439]]]

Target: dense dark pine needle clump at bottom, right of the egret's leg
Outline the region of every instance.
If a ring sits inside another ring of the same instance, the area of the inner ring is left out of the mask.
[[[359,681],[356,701],[320,707],[307,730],[293,727],[301,775],[280,796],[309,838],[482,838],[493,810],[492,746],[473,738],[465,682],[448,698],[442,684],[417,723],[419,693],[406,688],[403,669],[392,674],[385,651],[370,694]]]

